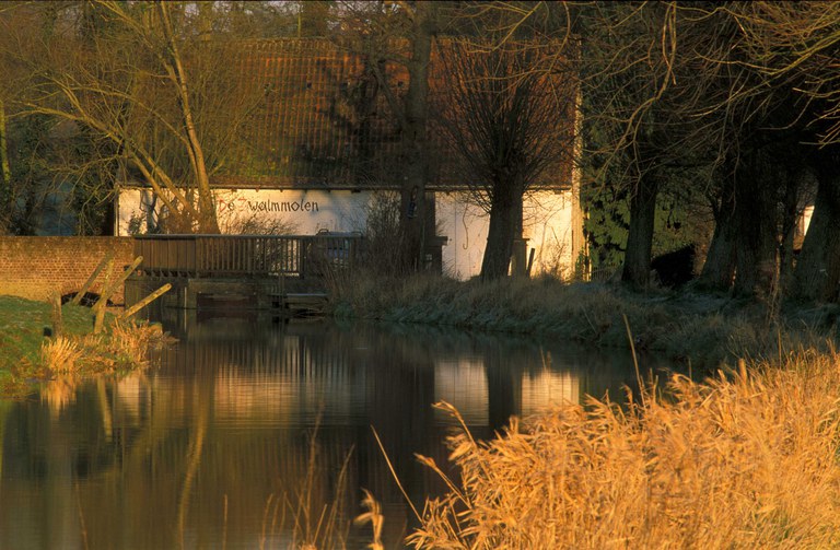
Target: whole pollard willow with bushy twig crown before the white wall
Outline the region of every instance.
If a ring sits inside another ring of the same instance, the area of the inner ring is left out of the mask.
[[[532,70],[557,44],[439,44],[443,70],[435,77],[445,82],[435,104],[439,127],[459,157],[460,178],[490,215],[481,278],[506,277],[522,238],[523,196],[557,185],[563,174],[571,178],[575,81],[565,65],[551,73]]]

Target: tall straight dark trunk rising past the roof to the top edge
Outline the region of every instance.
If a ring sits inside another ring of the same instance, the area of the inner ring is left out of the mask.
[[[425,180],[428,156],[425,127],[429,117],[429,60],[432,50],[432,24],[429,2],[418,2],[411,60],[408,63],[408,92],[402,127],[405,171],[400,188],[400,234],[402,267],[418,271],[425,250]]]

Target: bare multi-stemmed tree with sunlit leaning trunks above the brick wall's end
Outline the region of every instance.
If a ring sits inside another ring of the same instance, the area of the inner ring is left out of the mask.
[[[55,31],[16,56],[32,74],[24,112],[86,132],[101,156],[148,183],[171,230],[218,233],[210,174],[224,162],[249,98],[230,42],[209,40],[196,21],[206,9],[185,3],[97,1],[60,4]],[[47,7],[28,8],[43,17]],[[90,12],[96,24],[81,24]],[[14,28],[7,28],[14,34]],[[198,32],[197,32],[198,31]],[[33,40],[35,38],[35,40]],[[207,145],[210,150],[207,150]]]

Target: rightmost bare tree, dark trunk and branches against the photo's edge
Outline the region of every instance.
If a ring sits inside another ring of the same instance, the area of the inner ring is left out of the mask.
[[[735,4],[750,69],[796,98],[797,153],[817,179],[810,226],[794,272],[798,299],[837,301],[840,284],[840,7],[836,3]]]

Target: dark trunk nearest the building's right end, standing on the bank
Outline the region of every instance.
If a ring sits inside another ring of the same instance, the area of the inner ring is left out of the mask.
[[[651,282],[653,222],[656,215],[656,196],[660,191],[655,169],[648,169],[640,175],[635,192],[630,197],[630,229],[627,234],[621,280],[637,290],[646,289]]]

